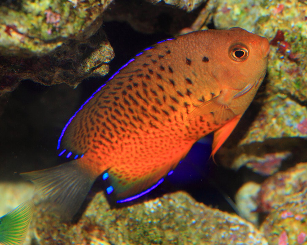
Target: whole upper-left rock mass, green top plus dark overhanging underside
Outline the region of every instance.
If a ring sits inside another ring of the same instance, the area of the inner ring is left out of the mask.
[[[110,2],[1,3],[0,95],[24,79],[76,87],[84,78],[106,75],[114,52],[99,28]]]

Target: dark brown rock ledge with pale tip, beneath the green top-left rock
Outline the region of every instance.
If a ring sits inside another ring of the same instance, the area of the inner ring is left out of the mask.
[[[114,51],[102,29],[84,41],[69,41],[48,55],[0,59],[0,95],[15,89],[18,82],[30,79],[44,85],[66,83],[76,87],[84,78],[109,72]]]

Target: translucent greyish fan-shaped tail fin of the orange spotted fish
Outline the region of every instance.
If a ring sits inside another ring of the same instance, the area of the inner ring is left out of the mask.
[[[64,220],[71,219],[82,205],[97,176],[82,168],[80,159],[54,168],[21,173],[35,185],[35,192]]]

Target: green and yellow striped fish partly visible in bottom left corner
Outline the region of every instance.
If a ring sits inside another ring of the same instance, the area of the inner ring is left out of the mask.
[[[0,217],[0,244],[23,244],[33,213],[34,203],[28,200]]]

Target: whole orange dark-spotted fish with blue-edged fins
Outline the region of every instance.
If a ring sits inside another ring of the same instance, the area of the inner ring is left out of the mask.
[[[239,27],[160,41],[72,115],[57,144],[70,161],[21,175],[64,219],[99,176],[110,202],[132,201],[161,184],[212,132],[214,157],[255,97],[269,52],[265,37]]]

